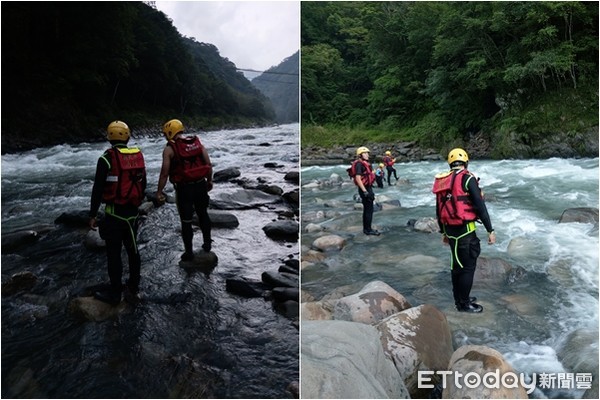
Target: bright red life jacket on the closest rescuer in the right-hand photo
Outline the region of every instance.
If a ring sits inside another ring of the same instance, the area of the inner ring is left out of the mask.
[[[466,169],[435,176],[432,192],[436,195],[438,216],[444,225],[463,225],[477,220],[477,212],[462,184],[465,174],[474,177]]]

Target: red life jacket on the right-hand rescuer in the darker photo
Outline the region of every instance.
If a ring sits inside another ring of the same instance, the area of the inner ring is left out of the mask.
[[[198,136],[178,137],[168,145],[175,152],[169,171],[172,183],[196,182],[211,173],[212,167],[204,159],[204,147]]]

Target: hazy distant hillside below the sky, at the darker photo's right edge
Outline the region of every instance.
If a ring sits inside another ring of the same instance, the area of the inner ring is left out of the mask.
[[[298,122],[300,52],[286,58],[252,80],[252,84],[273,103],[275,120],[279,123]]]

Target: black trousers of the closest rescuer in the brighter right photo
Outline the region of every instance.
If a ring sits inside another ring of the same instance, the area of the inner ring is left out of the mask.
[[[452,293],[455,304],[468,304],[473,287],[473,276],[481,244],[475,231],[463,236],[448,235],[452,252]]]

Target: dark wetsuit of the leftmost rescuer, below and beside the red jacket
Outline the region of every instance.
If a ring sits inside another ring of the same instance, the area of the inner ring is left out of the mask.
[[[120,145],[117,145],[119,147]],[[122,147],[127,147],[123,145]],[[90,206],[90,218],[96,218],[100,203],[102,202],[102,192],[106,184],[106,177],[110,171],[108,164],[110,157],[103,155],[98,159],[96,166],[96,176],[94,178],[94,187],[92,189],[92,200]],[[143,182],[143,189],[146,189],[146,181]],[[106,242],[106,258],[108,264],[108,276],[110,278],[110,295],[118,297],[120,300],[123,283],[123,263],[121,260],[121,249],[125,246],[129,261],[129,280],[127,288],[132,294],[139,291],[141,259],[137,247],[137,230],[139,222],[138,207],[134,205],[106,204],[105,217],[98,222],[100,237]]]

